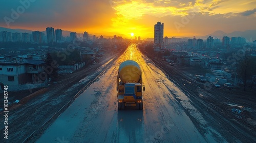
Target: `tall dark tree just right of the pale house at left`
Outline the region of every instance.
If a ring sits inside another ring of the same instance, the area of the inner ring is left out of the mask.
[[[52,71],[51,73],[49,73],[49,72],[47,73],[49,75],[48,78],[51,77],[51,78],[53,78],[53,80],[56,80],[58,77],[58,73],[57,73],[58,68],[52,67],[53,58],[49,52],[46,54],[46,59],[44,61],[45,61],[45,65],[46,65],[45,68],[49,67],[51,69],[51,70],[49,70],[49,69],[46,69],[46,70]]]

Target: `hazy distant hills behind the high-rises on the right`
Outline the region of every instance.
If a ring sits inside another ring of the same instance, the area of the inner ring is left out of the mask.
[[[222,39],[223,36],[228,36],[228,37],[244,37],[250,42],[256,40],[256,30],[246,30],[246,31],[234,31],[232,33],[225,33],[223,31],[215,31],[214,33],[205,35],[205,36],[199,36],[200,38],[206,39],[209,36],[214,37],[214,38],[219,38]]]

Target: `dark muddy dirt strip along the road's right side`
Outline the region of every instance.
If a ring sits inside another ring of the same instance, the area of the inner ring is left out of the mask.
[[[147,55],[147,57],[162,68],[170,80],[180,86],[191,100],[191,104],[204,115],[212,128],[220,131],[227,141],[233,141],[234,138],[242,142],[256,141],[255,88],[247,92],[241,88],[232,90],[215,88],[210,83],[201,83],[193,78],[193,74],[200,73],[200,69],[170,66],[154,56]]]

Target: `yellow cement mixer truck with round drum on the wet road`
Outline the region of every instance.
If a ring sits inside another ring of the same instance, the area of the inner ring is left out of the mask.
[[[116,85],[118,110],[124,110],[125,106],[136,106],[137,110],[143,109],[142,92],[145,91],[145,87],[137,62],[127,60],[120,64]]]

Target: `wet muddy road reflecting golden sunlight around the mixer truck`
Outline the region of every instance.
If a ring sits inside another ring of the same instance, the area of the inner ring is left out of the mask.
[[[116,76],[119,65],[125,60],[135,60],[141,66],[146,88],[143,110],[133,107],[117,110]],[[207,125],[190,102],[186,94],[133,44],[37,142],[226,142]]]

